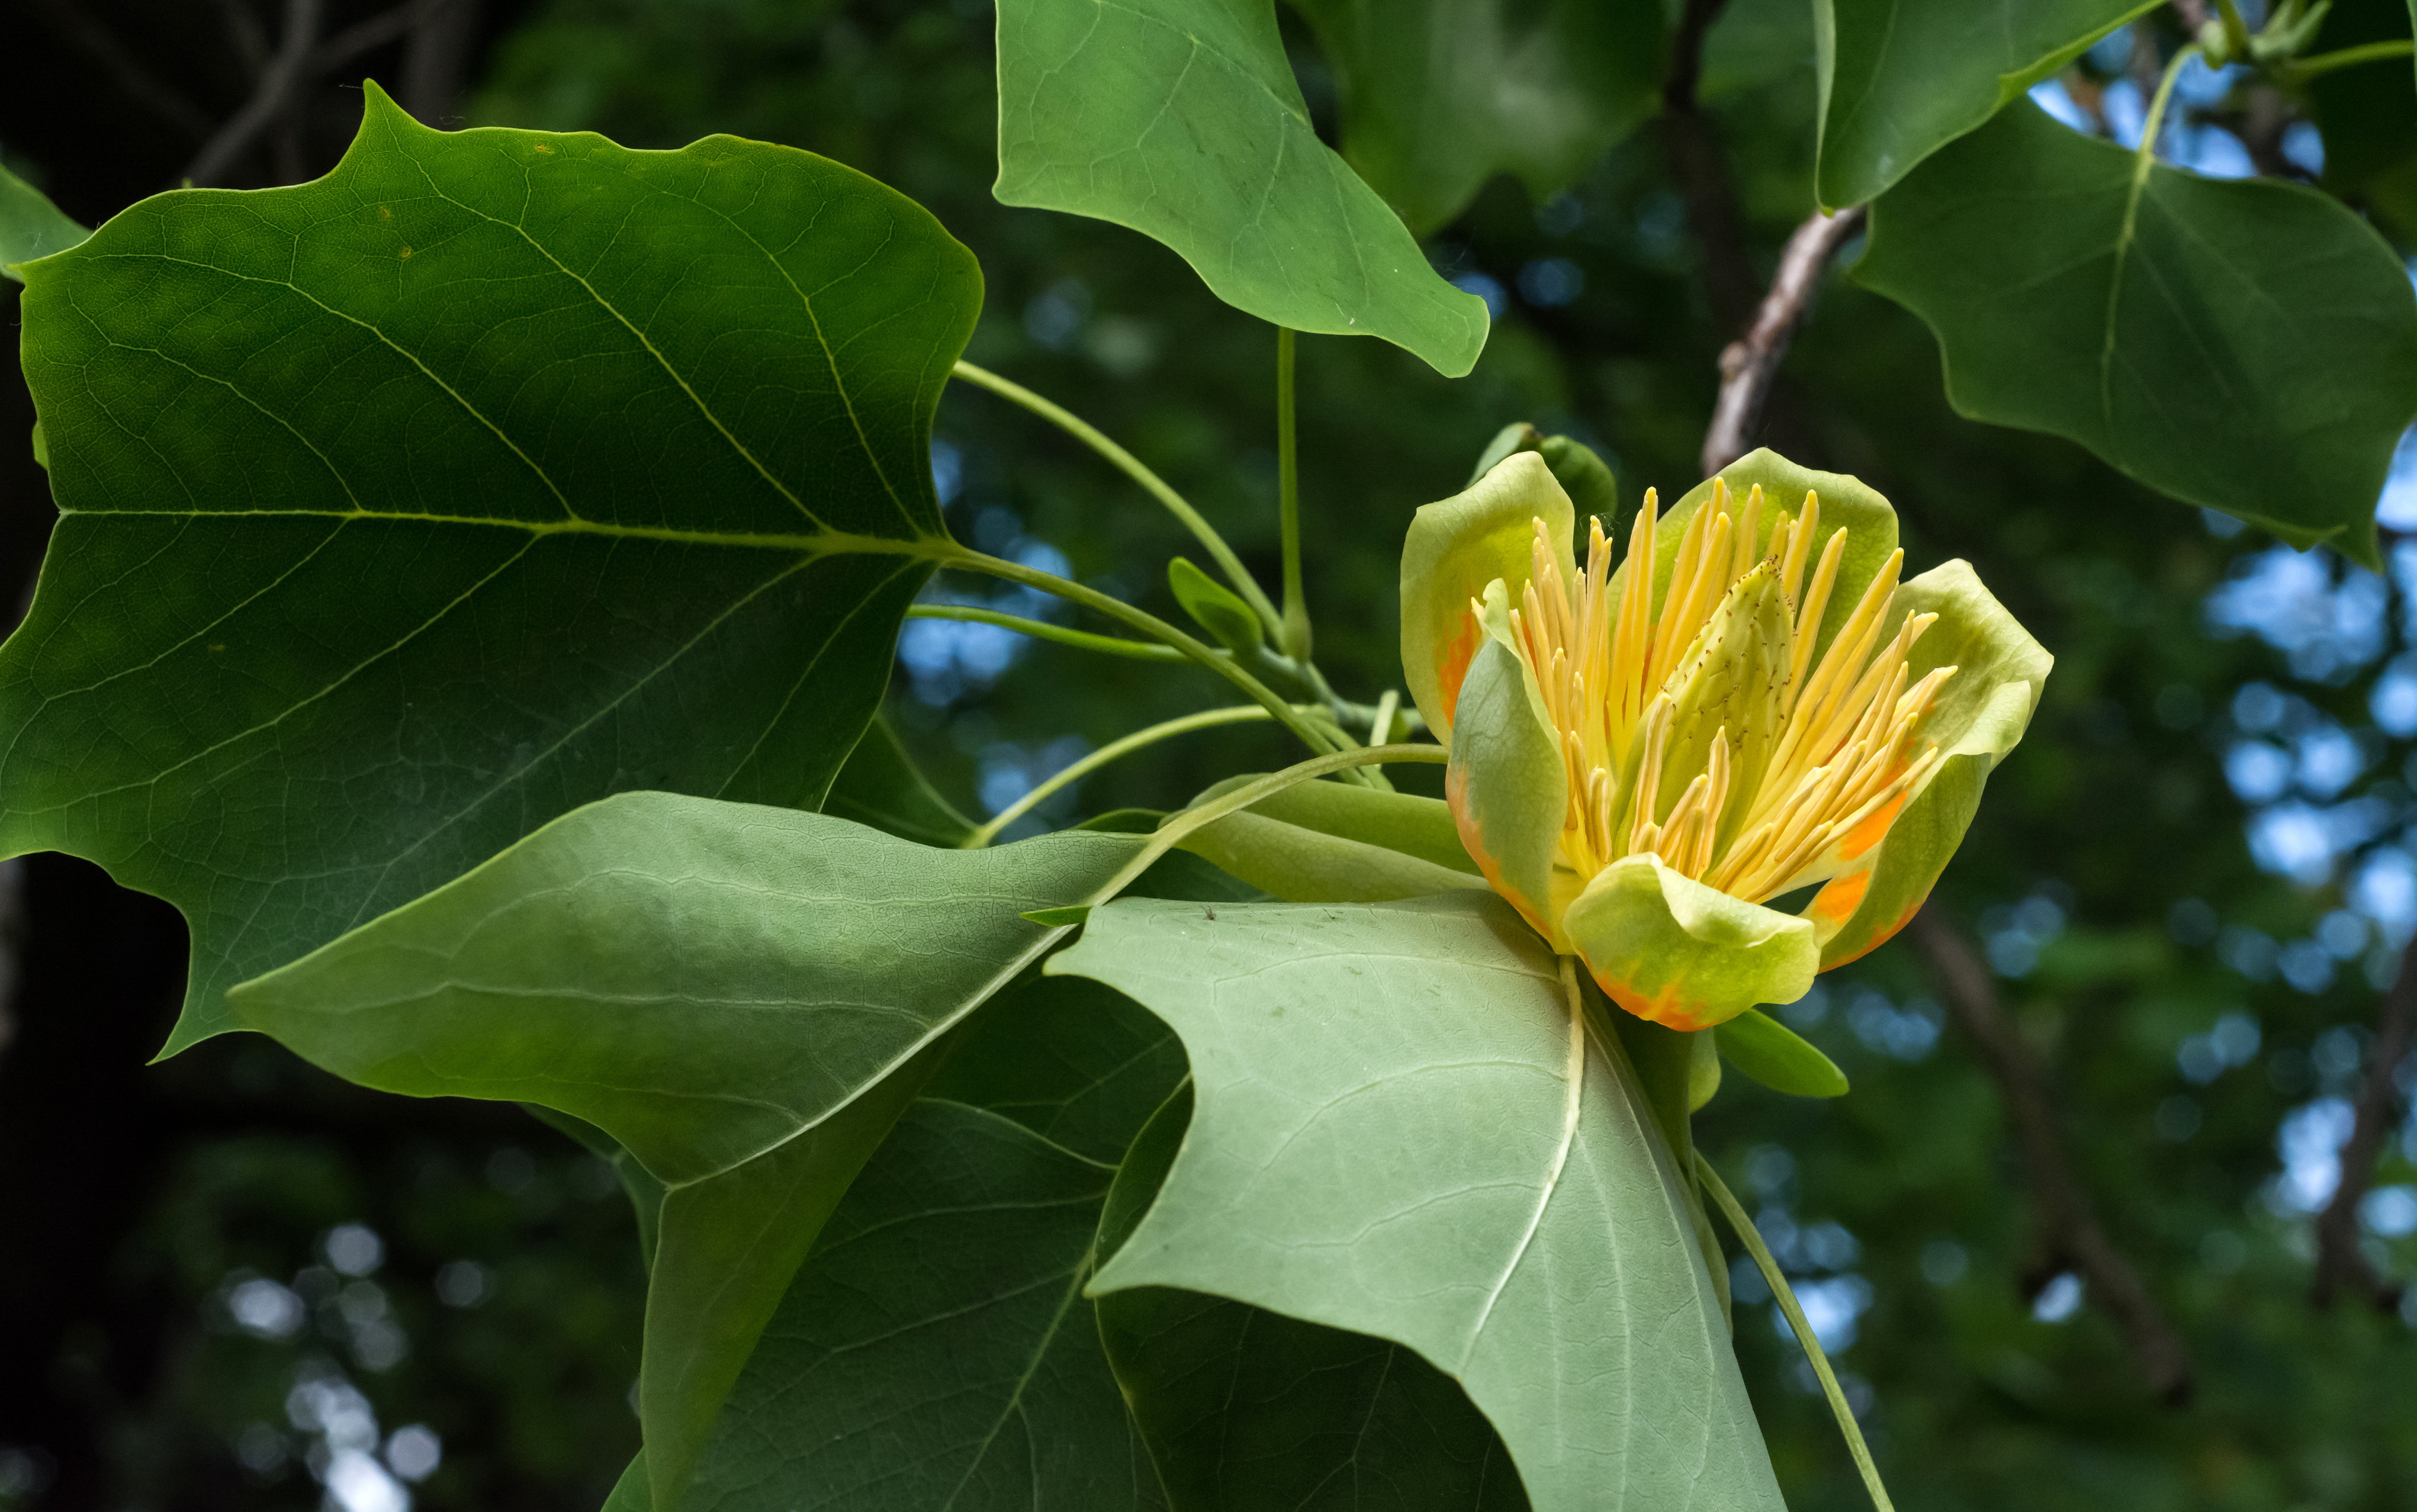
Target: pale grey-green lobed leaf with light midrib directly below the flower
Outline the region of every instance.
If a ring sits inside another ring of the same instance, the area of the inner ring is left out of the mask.
[[[1051,973],[1167,1019],[1199,1106],[1095,1295],[1177,1287],[1402,1343],[1537,1507],[1779,1488],[1634,1072],[1494,896],[1095,908]],[[1571,1077],[1576,1048],[1576,1080]]]

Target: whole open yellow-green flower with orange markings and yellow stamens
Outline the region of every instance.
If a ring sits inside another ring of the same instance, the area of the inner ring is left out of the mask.
[[[1970,563],[1900,580],[1878,493],[1772,452],[1648,490],[1617,570],[1573,524],[1515,454],[1409,527],[1402,669],[1460,838],[1641,1019],[1793,1002],[1922,906],[2052,659]]]

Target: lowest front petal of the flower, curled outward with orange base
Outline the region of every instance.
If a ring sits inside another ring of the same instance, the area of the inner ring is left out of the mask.
[[[1561,925],[1612,1002],[1670,1029],[1796,1002],[1820,969],[1810,920],[1704,886],[1653,853],[1598,872]]]

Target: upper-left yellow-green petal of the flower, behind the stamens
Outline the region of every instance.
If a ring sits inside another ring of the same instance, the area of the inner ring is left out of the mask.
[[[1450,744],[1462,679],[1484,645],[1470,613],[1501,580],[1518,604],[1532,568],[1535,522],[1559,553],[1561,580],[1576,575],[1569,539],[1576,510],[1535,452],[1518,452],[1448,500],[1426,505],[1402,541],[1402,679],[1438,742]]]

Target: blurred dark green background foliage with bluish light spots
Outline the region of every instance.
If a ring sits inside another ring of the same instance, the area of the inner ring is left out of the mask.
[[[379,14],[331,2],[321,29]],[[989,198],[989,5],[454,0],[450,14],[445,36],[372,36],[227,179],[324,171],[358,121],[338,80],[363,72],[401,80],[445,126],[824,152],[976,251],[974,362],[1119,437],[1276,580],[1274,336],[1153,242]],[[181,176],[196,130],[249,89],[247,24],[271,36],[278,22],[247,0],[10,0],[0,17],[0,157],[87,222]],[[2178,36],[2158,12],[2035,99],[2137,143],[2144,27]],[[1291,12],[1286,29],[1332,140],[1332,77]],[[1706,46],[1702,101],[1757,280],[1810,210],[1810,46],[1803,0],[1733,0]],[[2185,80],[2175,157],[2325,176],[2332,140],[2236,85]],[[1470,379],[1373,341],[1303,341],[1308,587],[1320,662],[1346,696],[1397,684],[1402,529],[1462,485],[1503,423],[1590,442],[1629,498],[1694,481],[1735,331],[1689,229],[1702,186],[1670,162],[1648,126],[1576,188],[1530,203],[1496,181],[1436,237],[1438,268],[1496,314]],[[2395,237],[2405,171],[2364,164],[2349,186]],[[0,428],[22,437],[15,379],[5,403]],[[1095,456],[964,386],[938,437],[960,536],[1175,616],[1165,558],[1184,541]],[[2299,556],[2074,444],[1955,418],[1929,333],[1844,278],[1798,336],[1760,440],[1878,485],[1912,568],[1970,558],[2057,655],[1941,901],[1982,942],[2050,1068],[2081,1184],[2197,1367],[2195,1396],[2161,1406],[2088,1290],[2040,1273],[1999,1089],[1922,959],[1893,944],[1784,1010],[1854,1094],[1791,1101],[1731,1077],[1699,1140],[1798,1275],[1900,1505],[2405,1505],[2417,1304],[2313,1307],[2311,1232],[2378,993],[2417,927],[2417,541],[2402,534],[2417,447],[2383,498],[2390,572]],[[24,447],[0,469],[17,599],[51,505]],[[935,592],[1061,613],[989,585]],[[1083,751],[1223,700],[1184,669],[911,621],[889,720],[943,792],[989,814]],[[1044,816],[1172,807],[1286,758],[1267,727],[1201,732]],[[256,1036],[145,1068],[181,983],[181,925],[60,857],[22,862],[15,886],[0,1507],[599,1505],[636,1447],[643,1302],[612,1171],[510,1109],[379,1099]],[[2417,1268],[2417,1126],[2395,1126],[2361,1227],[2388,1278]],[[1864,1505],[1747,1266],[1735,1290],[1789,1502]]]

